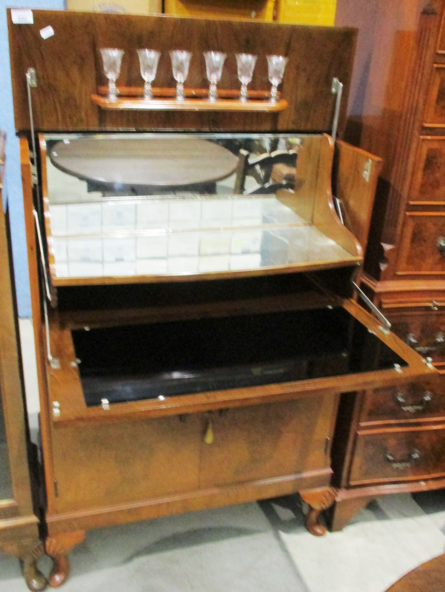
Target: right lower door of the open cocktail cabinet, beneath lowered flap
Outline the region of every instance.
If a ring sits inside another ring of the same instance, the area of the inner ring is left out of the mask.
[[[328,469],[337,400],[314,396],[207,414],[213,441],[203,438],[201,487]]]

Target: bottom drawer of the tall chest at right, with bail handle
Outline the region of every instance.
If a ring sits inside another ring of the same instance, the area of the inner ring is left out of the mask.
[[[359,432],[350,485],[445,475],[445,425]]]

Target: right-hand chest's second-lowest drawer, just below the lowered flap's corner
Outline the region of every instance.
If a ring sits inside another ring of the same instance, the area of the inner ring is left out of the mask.
[[[360,413],[360,425],[445,419],[445,378],[367,391]]]

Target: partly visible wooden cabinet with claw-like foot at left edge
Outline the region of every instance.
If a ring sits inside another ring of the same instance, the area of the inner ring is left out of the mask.
[[[5,134],[0,131],[0,204],[5,173]],[[17,311],[15,309],[8,213],[0,209],[0,551],[22,561],[30,590],[43,590],[37,570],[43,555],[38,532],[37,455],[24,405]]]

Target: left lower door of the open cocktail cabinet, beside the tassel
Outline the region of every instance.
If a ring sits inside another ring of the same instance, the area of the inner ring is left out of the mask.
[[[201,434],[198,415],[56,430],[57,511],[198,489]]]

